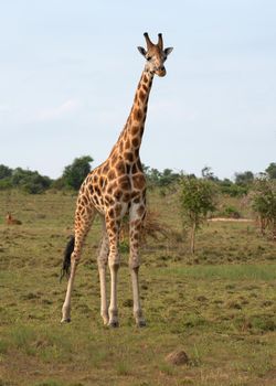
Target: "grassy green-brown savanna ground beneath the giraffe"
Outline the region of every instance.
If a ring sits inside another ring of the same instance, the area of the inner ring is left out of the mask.
[[[181,233],[176,195],[149,193],[149,202]],[[276,385],[276,243],[254,223],[205,225],[193,257],[180,237],[149,242],[140,269],[145,329],[132,321],[124,245],[120,326],[109,330],[99,317],[97,219],[72,323],[60,324],[66,280],[59,277],[74,208],[68,193],[0,193],[0,386]],[[7,226],[7,210],[23,224]],[[176,350],[188,364],[166,361]]]

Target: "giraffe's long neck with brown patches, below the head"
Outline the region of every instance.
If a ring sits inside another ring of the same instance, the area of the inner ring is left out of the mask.
[[[153,76],[153,73],[144,69],[135,93],[129,117],[115,146],[115,148],[119,149],[119,153],[129,162],[134,162],[139,158]]]

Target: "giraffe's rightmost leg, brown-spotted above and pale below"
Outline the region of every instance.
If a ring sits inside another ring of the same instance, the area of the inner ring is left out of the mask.
[[[140,232],[142,225],[142,218],[145,217],[146,208],[144,204],[132,205],[129,214],[129,239],[130,239],[130,258],[129,268],[131,272],[132,281],[132,294],[134,294],[134,318],[138,326],[145,326],[146,320],[142,315],[140,294],[139,294],[139,267],[140,257],[138,254]]]

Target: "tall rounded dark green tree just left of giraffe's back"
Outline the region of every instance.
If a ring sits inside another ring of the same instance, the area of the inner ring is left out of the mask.
[[[84,156],[76,158],[72,164],[65,167],[62,174],[65,185],[77,191],[86,175],[91,172],[91,162],[93,162],[93,158],[91,156]]]

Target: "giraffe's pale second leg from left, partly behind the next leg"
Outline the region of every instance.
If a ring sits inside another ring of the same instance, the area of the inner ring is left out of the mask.
[[[108,309],[107,309],[107,297],[106,297],[106,266],[108,260],[109,243],[106,233],[105,221],[103,218],[103,239],[98,254],[98,275],[100,283],[100,317],[103,318],[104,324],[107,325],[109,322]]]

